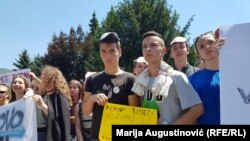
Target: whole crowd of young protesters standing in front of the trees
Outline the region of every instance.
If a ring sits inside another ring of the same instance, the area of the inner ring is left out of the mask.
[[[219,51],[224,39],[213,32],[195,38],[203,61],[198,68],[188,63],[186,38],[174,38],[171,67],[163,61],[167,52],[163,36],[145,32],[143,57],[135,60],[134,74],[119,66],[120,40],[115,32],[102,34],[99,53],[104,70],[86,77],[83,84],[67,83],[61,71],[49,65],[43,67],[40,78],[31,73],[32,89],[26,78],[13,78],[8,102],[32,96],[37,105],[38,140],[69,141],[72,136],[77,141],[99,140],[107,102],[156,109],[159,125],[220,124]],[[0,85],[1,105],[6,104],[2,99],[7,90],[5,84]]]

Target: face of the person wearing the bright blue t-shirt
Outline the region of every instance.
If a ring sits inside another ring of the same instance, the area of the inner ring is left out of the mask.
[[[215,38],[212,34],[205,34],[198,38],[196,42],[196,49],[199,52],[200,58],[206,60],[211,60],[218,58],[219,51],[214,45]]]

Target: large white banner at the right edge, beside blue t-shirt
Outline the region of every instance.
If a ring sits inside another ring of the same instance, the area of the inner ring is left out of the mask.
[[[250,124],[250,23],[223,26],[221,124]]]

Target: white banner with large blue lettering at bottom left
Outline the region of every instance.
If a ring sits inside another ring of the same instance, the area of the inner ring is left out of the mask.
[[[0,106],[0,141],[37,141],[35,106],[32,97]]]

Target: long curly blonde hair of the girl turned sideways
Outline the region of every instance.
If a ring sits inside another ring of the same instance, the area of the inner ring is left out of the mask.
[[[56,90],[59,90],[67,98],[69,105],[72,105],[68,84],[62,72],[58,68],[50,65],[45,65],[41,72],[43,77],[47,78],[46,82],[42,81],[41,83],[41,92],[45,93],[48,85],[54,85]]]

